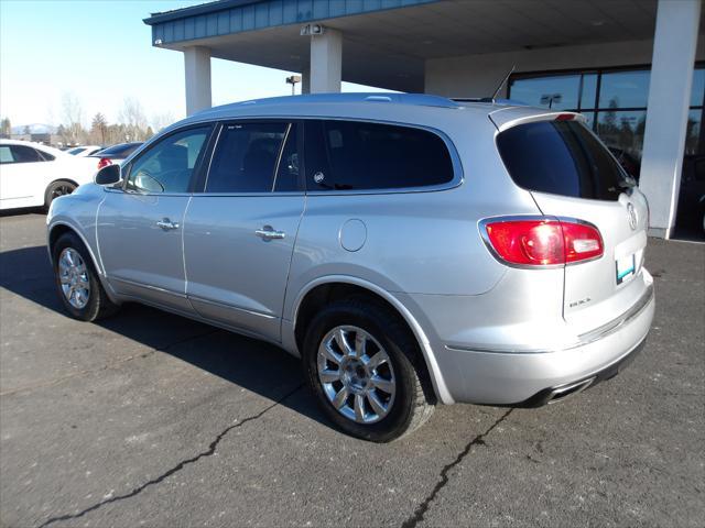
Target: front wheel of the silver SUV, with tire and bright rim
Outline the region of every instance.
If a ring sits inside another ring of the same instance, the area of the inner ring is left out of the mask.
[[[52,257],[58,297],[73,318],[97,321],[118,310],[118,305],[108,298],[100,284],[88,250],[76,234],[62,234],[52,248]],[[65,289],[68,289],[68,293],[65,293]]]

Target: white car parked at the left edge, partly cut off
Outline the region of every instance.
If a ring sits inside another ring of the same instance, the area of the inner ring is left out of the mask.
[[[0,140],[0,209],[48,207],[52,200],[93,182],[96,165],[57,148]]]

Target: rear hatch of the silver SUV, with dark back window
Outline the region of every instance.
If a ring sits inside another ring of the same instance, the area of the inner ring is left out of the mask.
[[[497,136],[510,176],[543,215],[589,222],[601,234],[601,257],[564,268],[563,316],[577,333],[629,310],[650,284],[642,268],[647,200],[582,119],[534,114],[500,122]]]

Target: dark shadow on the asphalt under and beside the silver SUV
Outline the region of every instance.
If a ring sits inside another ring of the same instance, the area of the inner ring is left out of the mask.
[[[45,246],[0,253],[0,288],[68,317],[55,290]],[[304,383],[300,361],[282,349],[166,311],[126,304],[116,316],[95,324],[272,400]],[[303,393],[304,397],[281,404],[330,427],[313,397]]]

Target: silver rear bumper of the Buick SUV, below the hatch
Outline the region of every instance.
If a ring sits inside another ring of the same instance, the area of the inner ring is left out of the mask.
[[[506,352],[445,345],[435,353],[453,400],[539,406],[618,373],[644,344],[654,314],[649,285],[632,308],[555,351]]]

